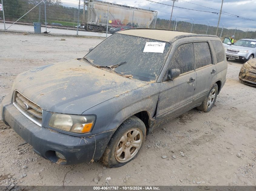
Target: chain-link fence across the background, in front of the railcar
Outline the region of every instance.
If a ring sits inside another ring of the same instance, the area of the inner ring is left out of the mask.
[[[96,0],[72,0],[77,3],[77,7],[63,6],[61,0],[0,0],[0,3],[1,1],[2,30],[34,32],[34,23],[41,23],[41,31],[45,33],[107,37],[118,30],[131,27],[211,35],[215,35],[217,29],[209,22],[198,23],[192,18],[175,16],[170,21],[157,17],[156,11]],[[222,38],[235,35],[235,39],[239,40],[245,37],[256,38],[256,31],[240,27],[227,29],[220,24],[217,35]]]

